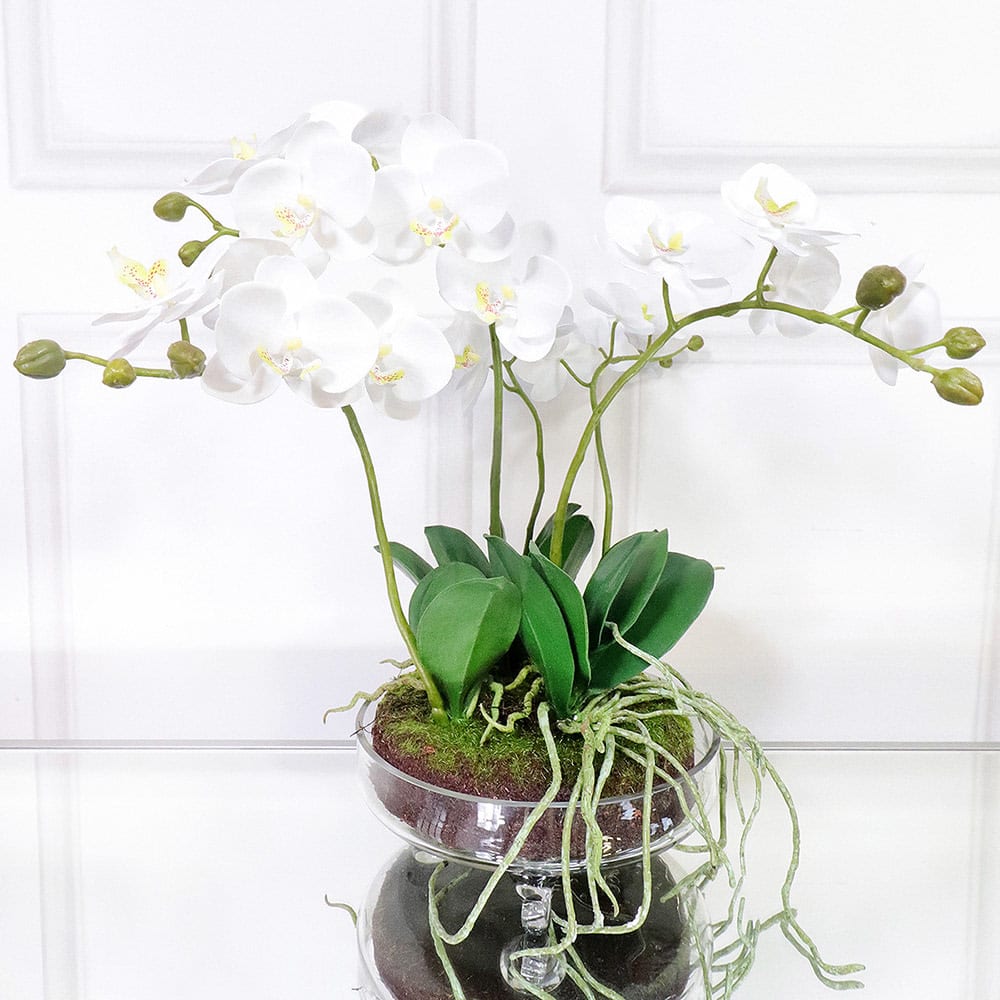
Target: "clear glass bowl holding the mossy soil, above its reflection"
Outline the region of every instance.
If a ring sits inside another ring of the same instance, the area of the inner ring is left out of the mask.
[[[372,811],[404,840],[442,857],[466,865],[495,866],[511,848],[537,802],[516,802],[467,795],[439,788],[411,777],[383,760],[372,746],[368,729],[375,705],[366,702],[357,718],[361,781]],[[651,850],[662,851],[683,840],[690,832],[685,807],[694,800],[694,788],[703,797],[709,789],[710,766],[719,751],[719,736],[700,719],[694,727],[694,764],[678,779],[679,787],[664,782],[653,788],[650,813]],[[684,803],[681,802],[683,794]],[[597,820],[603,834],[604,862],[618,863],[642,853],[642,793],[601,799]],[[527,835],[517,868],[558,871],[562,868],[563,821],[568,803],[553,802]],[[573,819],[570,868],[586,864],[586,831],[579,815]]]

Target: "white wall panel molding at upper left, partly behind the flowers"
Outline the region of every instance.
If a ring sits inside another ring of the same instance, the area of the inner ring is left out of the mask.
[[[471,132],[475,120],[475,3],[428,0],[428,7],[428,106]],[[6,0],[3,16],[14,187],[170,187],[222,151],[215,142],[65,134],[54,113],[49,0]]]

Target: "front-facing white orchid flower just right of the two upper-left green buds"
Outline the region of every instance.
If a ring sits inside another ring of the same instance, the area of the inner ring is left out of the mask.
[[[365,257],[374,231],[365,217],[375,182],[371,157],[329,122],[308,121],[282,159],[252,166],[233,188],[242,236],[296,243],[311,235],[338,260]]]

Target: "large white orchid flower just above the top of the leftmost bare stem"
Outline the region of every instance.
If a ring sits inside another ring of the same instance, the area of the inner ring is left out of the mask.
[[[290,257],[265,258],[253,281],[225,293],[215,336],[202,384],[234,403],[257,403],[284,383],[316,406],[345,406],[362,394],[379,351],[371,318],[319,292]]]

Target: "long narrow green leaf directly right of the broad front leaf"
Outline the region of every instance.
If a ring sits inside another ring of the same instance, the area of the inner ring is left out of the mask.
[[[577,660],[559,602],[528,556],[495,535],[487,536],[486,547],[494,569],[513,581],[521,593],[518,634],[545,681],[549,704],[565,718],[572,714],[573,689],[578,686]]]

